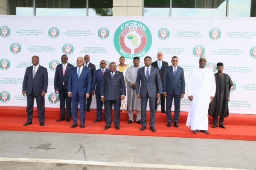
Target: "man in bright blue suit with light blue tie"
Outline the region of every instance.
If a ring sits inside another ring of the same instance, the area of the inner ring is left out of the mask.
[[[77,126],[77,108],[80,104],[80,127],[84,128],[86,99],[90,96],[91,91],[91,72],[89,68],[83,66],[83,57],[76,59],[77,66],[72,68],[68,79],[68,96],[71,98],[71,112],[73,117],[73,125]]]

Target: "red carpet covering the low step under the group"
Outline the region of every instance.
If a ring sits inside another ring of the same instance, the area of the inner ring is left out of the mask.
[[[147,121],[149,121],[149,113],[147,113]],[[78,127],[72,129],[71,122],[56,122],[59,116],[59,108],[46,108],[45,126],[41,127],[37,118],[36,108],[34,109],[33,124],[23,126],[26,122],[25,107],[0,107],[0,130],[19,130],[19,131],[38,131],[38,132],[64,132],[64,133],[92,133],[92,134],[113,134],[113,135],[134,135],[134,136],[168,136],[168,137],[186,137],[186,138],[205,138],[205,139],[233,139],[233,140],[256,140],[256,115],[246,114],[230,114],[225,119],[224,125],[226,129],[217,127],[212,128],[209,124],[210,134],[200,133],[194,134],[186,127],[187,112],[180,113],[179,127],[167,127],[166,115],[157,111],[156,113],[156,133],[147,129],[140,131],[141,125],[133,122],[128,124],[127,111],[121,112],[120,128],[116,130],[113,122],[111,128],[104,130],[105,121],[94,123],[96,119],[96,109],[91,109],[86,113],[85,128],[81,129],[78,121]],[[173,113],[172,113],[173,116]],[[113,119],[112,119],[113,121]],[[212,123],[212,117],[209,117],[209,123]]]

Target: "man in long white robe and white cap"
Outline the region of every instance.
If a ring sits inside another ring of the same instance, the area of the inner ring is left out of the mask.
[[[194,133],[200,130],[208,132],[208,108],[215,95],[215,78],[212,69],[205,67],[207,59],[205,55],[199,58],[199,67],[195,67],[187,84],[190,102],[189,114],[186,126],[191,126]]]

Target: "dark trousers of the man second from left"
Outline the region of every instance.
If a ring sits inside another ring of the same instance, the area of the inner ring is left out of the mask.
[[[61,110],[61,118],[65,118],[65,105],[66,105],[66,116],[70,117],[71,113],[71,97],[67,94],[67,88],[63,85],[62,90],[59,91],[60,98],[60,110]]]

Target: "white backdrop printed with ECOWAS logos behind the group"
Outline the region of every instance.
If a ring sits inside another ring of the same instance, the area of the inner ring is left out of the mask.
[[[54,74],[61,55],[76,65],[77,57],[90,55],[99,68],[105,59],[132,65],[139,56],[152,62],[157,52],[169,62],[179,58],[185,81],[198,66],[198,57],[207,56],[207,67],[216,72],[224,63],[224,73],[234,82],[230,113],[256,114],[256,18],[152,18],[152,17],[18,17],[0,15],[0,106],[26,106],[22,82],[31,58],[38,55],[48,70],[46,107],[58,108],[54,94]],[[96,108],[95,97],[91,108]],[[160,108],[160,107],[159,107]],[[181,111],[189,110],[188,96],[181,100]]]

